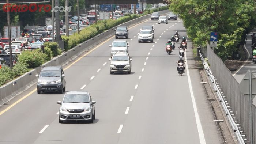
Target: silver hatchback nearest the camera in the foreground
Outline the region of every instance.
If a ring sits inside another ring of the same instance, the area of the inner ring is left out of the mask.
[[[95,120],[95,101],[87,91],[69,91],[64,95],[59,112],[59,123],[64,121],[86,121],[93,123]]]

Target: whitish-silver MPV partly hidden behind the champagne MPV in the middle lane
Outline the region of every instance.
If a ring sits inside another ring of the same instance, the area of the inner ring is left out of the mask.
[[[112,42],[112,45],[109,45],[109,47],[111,47],[110,57],[112,57],[113,54],[115,54],[116,52],[129,53],[129,50],[128,50],[129,45],[126,40],[115,40]]]

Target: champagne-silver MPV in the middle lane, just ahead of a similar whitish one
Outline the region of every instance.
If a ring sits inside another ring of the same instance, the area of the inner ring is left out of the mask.
[[[132,59],[128,53],[115,53],[112,58],[109,58],[110,63],[110,74],[114,72],[132,72]]]

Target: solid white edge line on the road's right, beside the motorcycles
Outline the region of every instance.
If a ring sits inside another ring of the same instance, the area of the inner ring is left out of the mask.
[[[186,51],[185,51],[185,61],[187,61]],[[195,96],[193,94],[193,89],[192,89],[192,84],[191,84],[191,79],[190,79],[190,75],[189,75],[189,70],[188,70],[188,65],[187,64],[186,64],[186,69],[187,69],[187,77],[188,77],[188,85],[189,85],[189,90],[190,90],[190,96],[191,96],[192,103],[193,103],[193,108],[194,108],[194,113],[195,113],[195,118],[196,118],[196,125],[197,125],[198,134],[199,134],[200,144],[206,144],[206,141],[204,139],[203,128],[202,128],[202,125],[201,125],[201,122],[200,122],[200,118],[199,118],[199,114],[198,114],[197,107],[196,107]]]

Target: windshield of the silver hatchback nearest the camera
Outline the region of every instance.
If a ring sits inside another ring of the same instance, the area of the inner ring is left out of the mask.
[[[87,94],[66,94],[63,103],[89,103]]]

